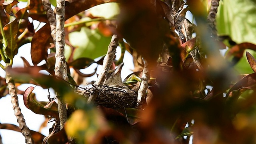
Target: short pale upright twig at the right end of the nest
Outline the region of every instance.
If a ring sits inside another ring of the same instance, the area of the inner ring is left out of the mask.
[[[140,82],[140,88],[138,90],[138,98],[137,98],[138,106],[142,106],[142,102],[145,100],[149,78],[150,78],[150,73],[148,71],[148,63],[145,60],[143,74]]]

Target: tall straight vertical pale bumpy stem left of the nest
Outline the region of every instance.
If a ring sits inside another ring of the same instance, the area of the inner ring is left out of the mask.
[[[56,62],[55,75],[68,81],[65,51],[65,32],[64,32],[64,14],[65,14],[65,0],[57,0],[56,6]],[[64,127],[67,121],[67,109],[62,96],[58,95],[58,109],[60,116],[60,129]]]

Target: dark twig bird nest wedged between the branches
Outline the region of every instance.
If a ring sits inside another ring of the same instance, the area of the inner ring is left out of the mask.
[[[92,96],[95,104],[105,106],[106,108],[135,108],[137,102],[136,92],[124,87],[115,88],[93,85],[92,88],[77,90],[77,93],[85,98]]]

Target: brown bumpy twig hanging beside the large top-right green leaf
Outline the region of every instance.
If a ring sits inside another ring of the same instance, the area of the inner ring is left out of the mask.
[[[220,0],[212,0],[211,2],[211,7],[207,16],[207,21],[208,21],[208,28],[210,30],[211,36],[215,39],[218,40],[217,38],[217,29],[215,25],[215,18],[216,14],[218,12],[218,6],[219,6]]]

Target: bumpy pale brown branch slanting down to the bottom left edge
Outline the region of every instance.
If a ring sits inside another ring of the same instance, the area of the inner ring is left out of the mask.
[[[20,106],[18,103],[18,96],[17,96],[16,90],[15,90],[14,81],[13,81],[12,77],[10,76],[10,73],[8,72],[8,70],[6,70],[5,79],[6,79],[8,88],[9,88],[9,94],[11,96],[12,108],[13,108],[14,114],[17,118],[19,128],[20,128],[23,136],[25,137],[26,144],[34,144],[34,140],[32,139],[32,136],[30,134],[30,130],[29,130],[28,126],[26,125],[25,119],[20,110]]]

